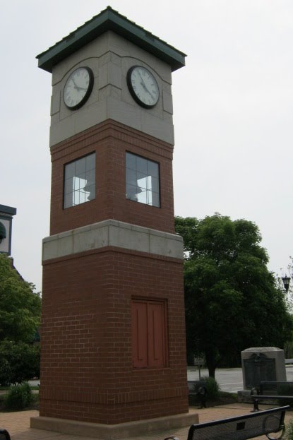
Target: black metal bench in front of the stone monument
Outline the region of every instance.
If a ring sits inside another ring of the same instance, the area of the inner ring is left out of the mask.
[[[293,382],[261,381],[259,388],[252,388],[253,412],[259,411],[258,402],[270,400],[277,403],[293,404]]]

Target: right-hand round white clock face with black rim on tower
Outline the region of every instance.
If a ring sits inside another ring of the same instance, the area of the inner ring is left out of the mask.
[[[145,108],[155,107],[160,91],[153,73],[143,66],[133,66],[127,72],[128,89],[136,102]]]

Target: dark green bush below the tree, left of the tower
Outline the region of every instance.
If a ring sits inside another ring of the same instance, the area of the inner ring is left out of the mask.
[[[40,377],[40,346],[4,340],[0,343],[0,385]]]

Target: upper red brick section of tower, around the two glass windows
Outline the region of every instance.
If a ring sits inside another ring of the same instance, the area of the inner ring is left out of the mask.
[[[95,199],[63,209],[64,164],[94,151]],[[126,199],[126,151],[160,163],[160,208]],[[51,235],[108,219],[174,232],[172,145],[108,120],[54,145],[51,152]]]

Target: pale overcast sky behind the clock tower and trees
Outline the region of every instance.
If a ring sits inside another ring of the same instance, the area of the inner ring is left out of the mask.
[[[0,0],[0,204],[12,256],[42,289],[49,235],[51,74],[35,56],[107,5],[185,52],[173,73],[176,215],[256,222],[269,268],[292,237],[292,0]]]

